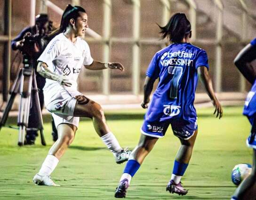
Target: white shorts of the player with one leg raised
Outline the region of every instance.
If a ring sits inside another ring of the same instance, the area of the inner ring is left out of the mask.
[[[78,91],[62,89],[53,100],[47,100],[49,103],[46,108],[51,113],[56,127],[61,123],[71,123],[78,128],[80,117],[73,116],[77,101],[76,95],[83,94]],[[47,98],[47,92],[44,93],[44,97]]]

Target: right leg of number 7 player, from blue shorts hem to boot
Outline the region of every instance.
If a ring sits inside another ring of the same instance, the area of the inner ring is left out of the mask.
[[[188,191],[181,185],[181,178],[184,175],[192,156],[194,143],[197,137],[197,125],[190,124],[176,131],[176,125],[172,124],[173,131],[179,137],[181,146],[176,154],[171,179],[166,190],[171,193],[185,195]],[[196,129],[196,130],[193,130]]]

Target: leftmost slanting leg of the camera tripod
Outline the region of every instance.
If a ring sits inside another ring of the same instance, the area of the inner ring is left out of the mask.
[[[12,108],[13,102],[15,100],[16,94],[19,92],[19,85],[20,85],[20,82],[21,82],[21,78],[22,78],[22,70],[19,69],[18,76],[16,77],[16,80],[13,83],[12,89],[10,91],[10,94],[11,94],[10,98],[8,100],[7,106],[6,106],[6,108],[3,112],[3,116],[2,116],[2,119],[0,121],[0,130],[1,130],[2,126],[5,125],[5,123],[7,121],[7,118],[8,118],[8,114],[9,114],[9,112]]]

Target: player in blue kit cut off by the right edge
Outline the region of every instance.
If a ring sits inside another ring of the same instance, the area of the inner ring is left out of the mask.
[[[243,114],[248,117],[248,120],[252,125],[251,134],[247,139],[247,145],[253,148],[253,167],[250,176],[236,189],[232,200],[255,199],[253,185],[256,183],[256,68],[251,63],[255,59],[256,38],[252,40],[250,44],[245,46],[234,60],[235,65],[243,76],[253,85],[250,92],[248,92],[243,111]]]

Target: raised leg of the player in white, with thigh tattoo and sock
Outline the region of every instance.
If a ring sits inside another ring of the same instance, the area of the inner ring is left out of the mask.
[[[100,136],[104,144],[114,154],[117,163],[128,160],[130,150],[123,149],[114,134],[110,131],[102,107],[87,97],[81,97],[74,108],[74,116],[89,117],[93,121],[95,131]]]

